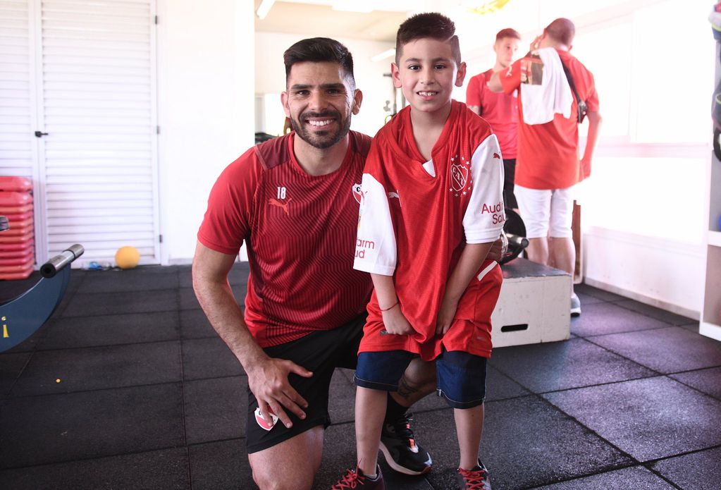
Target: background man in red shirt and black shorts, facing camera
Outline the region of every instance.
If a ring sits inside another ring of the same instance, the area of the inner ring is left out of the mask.
[[[503,155],[503,202],[507,208],[518,209],[516,196],[513,195],[513,176],[516,173],[516,131],[518,131],[518,104],[516,92],[506,95],[503,92],[491,92],[487,87],[492,74],[508,69],[513,56],[518,51],[521,35],[508,27],[496,34],[493,51],[496,62],[492,69],[472,77],[466,88],[466,105],[491,125],[495,133],[500,153]]]

